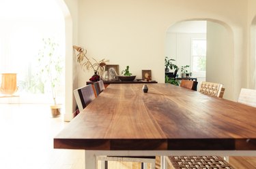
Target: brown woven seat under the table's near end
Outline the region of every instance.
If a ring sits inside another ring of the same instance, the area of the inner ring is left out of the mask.
[[[219,156],[168,156],[171,169],[234,169]]]

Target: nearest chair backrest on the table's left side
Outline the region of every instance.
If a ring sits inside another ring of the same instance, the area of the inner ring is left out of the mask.
[[[83,111],[83,109],[85,109],[85,107],[95,98],[94,89],[91,84],[74,90],[74,98],[76,99],[79,111]]]

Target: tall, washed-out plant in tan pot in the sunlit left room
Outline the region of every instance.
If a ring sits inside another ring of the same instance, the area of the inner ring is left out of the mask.
[[[57,104],[57,89],[60,88],[61,74],[63,73],[63,59],[58,53],[58,44],[51,38],[42,39],[44,46],[38,52],[39,73],[38,76],[44,83],[44,90],[47,83],[51,86],[51,95],[54,105],[51,105],[53,117],[61,114],[61,105]],[[43,90],[43,92],[44,92]]]

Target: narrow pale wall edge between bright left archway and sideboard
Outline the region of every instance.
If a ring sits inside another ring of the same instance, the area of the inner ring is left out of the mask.
[[[76,0],[56,0],[62,9],[63,16],[65,18],[65,31],[66,31],[66,96],[65,96],[65,115],[64,120],[70,121],[72,119],[72,113],[75,109],[76,102],[74,100],[73,90],[77,87],[78,75],[75,69],[76,59],[73,56],[72,44],[77,40],[77,27],[78,27],[78,3]]]

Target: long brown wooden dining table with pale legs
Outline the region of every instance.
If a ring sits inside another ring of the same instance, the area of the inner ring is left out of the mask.
[[[256,156],[256,108],[169,83],[111,84],[54,138],[98,155]],[[165,159],[162,158],[162,168]]]

